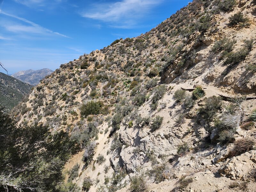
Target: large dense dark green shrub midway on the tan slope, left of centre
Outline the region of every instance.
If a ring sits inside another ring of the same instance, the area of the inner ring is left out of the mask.
[[[88,115],[98,115],[101,112],[103,103],[100,101],[89,101],[81,107],[81,115],[87,117]]]

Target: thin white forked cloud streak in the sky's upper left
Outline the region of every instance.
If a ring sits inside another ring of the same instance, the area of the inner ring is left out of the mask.
[[[0,14],[4,14],[6,16],[15,18],[17,20],[23,21],[23,22],[25,22],[25,23],[30,25],[30,26],[27,26],[27,25],[20,25],[20,24],[19,25],[7,24],[4,27],[8,31],[11,31],[11,32],[41,33],[41,34],[47,34],[48,33],[48,34],[55,34],[55,35],[58,35],[58,36],[63,36],[63,37],[66,37],[66,38],[71,38],[71,37],[63,35],[61,33],[54,32],[54,31],[52,31],[50,29],[44,28],[44,27],[42,27],[42,26],[40,26],[40,25],[38,25],[38,24],[36,24],[36,23],[34,23],[32,21],[29,21],[27,19],[18,17],[16,15],[12,15],[12,14],[9,14],[9,13],[3,12],[3,11],[0,11]]]

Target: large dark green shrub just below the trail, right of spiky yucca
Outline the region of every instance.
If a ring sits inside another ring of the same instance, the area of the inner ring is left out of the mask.
[[[205,106],[199,108],[199,115],[201,115],[206,122],[210,123],[221,106],[221,97],[209,97],[205,101]]]

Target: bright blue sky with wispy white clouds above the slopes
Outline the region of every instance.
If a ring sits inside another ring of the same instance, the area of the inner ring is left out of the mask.
[[[188,0],[0,0],[0,62],[50,68],[156,27]],[[0,70],[4,72],[4,70]]]

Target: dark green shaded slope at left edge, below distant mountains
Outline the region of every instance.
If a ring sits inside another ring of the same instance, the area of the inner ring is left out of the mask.
[[[18,79],[0,73],[0,105],[7,110],[18,105],[24,95],[30,93],[33,86]]]

